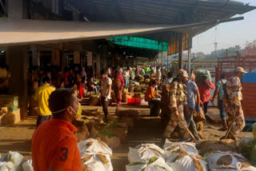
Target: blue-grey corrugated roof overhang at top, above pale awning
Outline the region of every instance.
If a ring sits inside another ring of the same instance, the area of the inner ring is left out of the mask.
[[[230,18],[254,10],[233,1],[202,0],[74,0],[90,21],[191,23]]]

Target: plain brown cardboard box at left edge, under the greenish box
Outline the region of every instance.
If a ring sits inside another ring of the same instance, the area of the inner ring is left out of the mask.
[[[8,112],[1,119],[1,125],[14,125],[21,121],[20,109]]]

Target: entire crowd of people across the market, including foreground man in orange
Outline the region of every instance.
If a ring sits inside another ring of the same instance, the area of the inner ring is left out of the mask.
[[[83,97],[84,89],[88,85],[95,93],[100,91],[102,109],[105,119],[107,119],[112,90],[117,99],[117,105],[122,105],[122,89],[128,88],[131,80],[138,80],[140,72],[139,66],[134,69],[126,67],[118,70],[108,67],[106,70],[102,70],[101,77],[97,82],[93,77],[86,78],[84,68],[76,70],[76,72],[65,70],[63,74],[58,74],[57,82],[55,81],[58,85],[56,88],[53,86],[54,77],[51,73],[48,72],[42,74],[43,77],[38,77],[40,86],[34,92],[34,100],[38,101],[40,116],[37,121],[38,128],[35,130],[32,140],[34,168],[82,170],[77,142],[73,134],[76,128],[71,124],[79,111],[82,111],[78,98]],[[226,137],[235,140],[237,133],[245,126],[240,80],[246,71],[241,67],[235,70],[234,77],[227,80],[225,74],[222,74],[216,89],[209,78],[204,77],[201,82],[195,82],[195,75],[192,74],[189,77],[186,70],[178,70],[174,78],[173,74],[167,73],[164,67],[146,66],[143,72],[149,74],[148,77],[151,78],[145,94],[145,100],[150,106],[150,115],[158,116],[160,108],[162,108],[161,117],[165,118],[166,128],[162,135],[161,146],[177,127],[182,133],[183,141],[192,140],[187,129],[190,129],[196,140],[200,140],[193,113],[198,113],[202,108],[204,114],[207,115],[209,101],[214,101],[217,95],[223,125],[220,130],[230,128]],[[34,82],[36,81],[34,80]],[[74,93],[74,85],[78,87],[78,94]],[[212,98],[210,89],[215,89]],[[161,91],[162,93],[160,93]],[[162,102],[165,104],[161,105]],[[52,136],[49,136],[51,134]],[[43,141],[39,147],[38,141]],[[51,148],[48,148],[49,143]],[[46,149],[47,151],[45,151]],[[49,157],[48,154],[53,152],[55,154],[50,156],[52,160],[42,165],[40,160],[46,161],[45,159]]]

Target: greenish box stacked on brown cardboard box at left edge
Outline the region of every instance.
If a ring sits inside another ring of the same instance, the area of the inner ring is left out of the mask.
[[[18,96],[0,95],[0,107],[7,107],[8,111],[18,109]]]

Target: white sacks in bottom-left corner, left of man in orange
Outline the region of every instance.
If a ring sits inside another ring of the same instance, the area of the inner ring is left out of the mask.
[[[6,153],[0,158],[0,171],[33,171],[32,160],[25,161],[22,154],[17,152]]]

